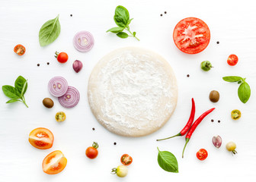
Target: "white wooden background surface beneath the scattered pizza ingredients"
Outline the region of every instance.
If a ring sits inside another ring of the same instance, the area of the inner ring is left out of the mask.
[[[0,181],[256,180],[256,11],[253,2],[1,0],[0,86],[14,84],[19,75],[28,79],[25,98],[29,108],[21,103],[5,104],[8,98],[0,92]],[[115,26],[113,16],[117,5],[123,5],[130,11],[130,17],[134,18],[130,28],[137,32],[140,42],[105,33]],[[59,38],[46,47],[40,47],[40,27],[57,14],[62,28]],[[200,54],[186,55],[174,45],[174,26],[184,17],[199,17],[210,27],[210,45]],[[73,47],[73,36],[80,30],[93,34],[95,45],[91,52],[78,52]],[[13,52],[14,45],[19,43],[27,49],[24,56]],[[178,105],[170,121],[161,130],[139,138],[120,137],[105,130],[91,114],[87,99],[88,77],[98,60],[114,49],[133,45],[152,49],[164,56],[174,69],[179,90]],[[69,61],[59,64],[53,57],[55,51],[67,52]],[[235,67],[226,63],[232,53],[239,58]],[[78,74],[72,70],[75,59],[84,64]],[[200,70],[200,62],[205,60],[213,63],[214,68],[209,72]],[[38,63],[40,67],[37,67]],[[75,108],[62,108],[57,99],[50,96],[47,83],[56,75],[66,77],[69,85],[79,90],[81,99]],[[227,75],[247,77],[251,98],[246,104],[238,99],[238,85],[222,80]],[[208,99],[212,89],[220,93],[216,104]],[[47,109],[42,105],[45,97],[54,100],[53,108]],[[181,158],[184,137],[162,142],[155,140],[176,134],[184,127],[190,115],[192,97],[197,107],[195,118],[209,108],[216,107],[216,110],[194,132],[187,144],[185,157]],[[235,108],[242,111],[242,118],[238,121],[230,118],[230,111]],[[55,121],[57,111],[66,112],[65,122]],[[214,122],[210,121],[212,118]],[[52,130],[55,141],[51,149],[35,149],[28,143],[29,133],[36,127]],[[213,146],[211,140],[214,135],[222,137],[220,149]],[[99,155],[90,160],[85,156],[85,149],[93,141],[100,145]],[[237,144],[238,154],[235,156],[225,149],[229,141]],[[157,146],[178,158],[178,174],[168,173],[158,166]],[[203,162],[196,158],[196,152],[201,148],[209,152]],[[56,149],[66,155],[68,164],[60,174],[44,174],[41,168],[43,158]],[[129,166],[129,174],[119,178],[110,171],[120,165],[123,153],[133,156],[133,164]]]

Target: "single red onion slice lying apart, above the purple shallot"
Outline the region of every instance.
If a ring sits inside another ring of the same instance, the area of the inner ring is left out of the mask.
[[[79,52],[88,52],[94,45],[94,38],[88,31],[81,31],[75,34],[73,44]]]

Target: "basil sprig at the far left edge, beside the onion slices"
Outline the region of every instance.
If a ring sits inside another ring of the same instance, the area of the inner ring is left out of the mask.
[[[11,99],[11,100],[8,100],[8,102],[6,103],[23,102],[24,105],[27,106],[24,98],[24,94],[27,91],[27,80],[24,79],[24,77],[19,76],[15,80],[14,86],[9,86],[9,85],[2,86],[2,91],[5,93],[5,96],[8,96],[8,98]]]

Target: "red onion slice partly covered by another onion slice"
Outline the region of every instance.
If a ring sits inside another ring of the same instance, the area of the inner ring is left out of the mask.
[[[69,86],[66,93],[58,97],[60,105],[62,105],[64,108],[72,108],[75,107],[75,105],[78,104],[80,99],[80,94],[77,89],[73,86]]]

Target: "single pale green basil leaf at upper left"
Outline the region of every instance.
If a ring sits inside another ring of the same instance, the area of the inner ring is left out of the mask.
[[[60,33],[59,14],[56,18],[46,21],[39,31],[39,42],[46,46],[56,40]]]

